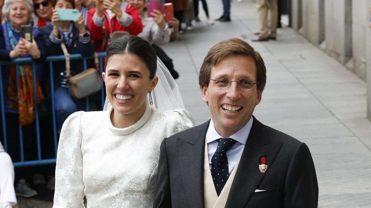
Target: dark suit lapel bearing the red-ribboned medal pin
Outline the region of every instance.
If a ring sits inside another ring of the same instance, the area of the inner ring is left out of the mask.
[[[244,207],[247,204],[265,176],[259,171],[260,158],[266,158],[267,172],[269,172],[269,167],[275,160],[281,146],[281,142],[270,141],[265,126],[254,117],[249,137],[241,155],[239,168],[232,182],[226,208]]]

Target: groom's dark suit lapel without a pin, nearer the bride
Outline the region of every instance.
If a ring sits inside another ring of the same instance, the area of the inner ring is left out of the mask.
[[[191,207],[204,207],[204,145],[210,120],[191,134],[177,138],[179,165],[185,193]]]

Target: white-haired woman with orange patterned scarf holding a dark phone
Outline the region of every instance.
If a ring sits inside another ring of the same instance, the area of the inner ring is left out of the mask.
[[[36,65],[36,76],[41,81],[43,64],[47,56],[43,34],[37,28],[33,28],[32,41],[25,40],[21,35],[21,26],[30,25],[30,14],[33,12],[32,0],[5,0],[1,11],[4,14],[4,23],[0,25],[0,60],[10,61],[18,57],[31,57]],[[24,148],[24,160],[30,160],[33,159],[31,150],[35,141],[33,137],[35,127],[32,119],[27,120],[27,122],[24,121],[28,118],[28,112],[34,112],[33,109],[36,108],[36,104],[24,102],[24,96],[22,93],[18,93],[17,88],[20,91],[26,91],[26,94],[33,93],[33,77],[35,75],[31,64],[19,64],[18,67],[6,65],[1,66],[1,68],[4,94],[4,100],[1,102],[4,104],[5,110],[8,154],[13,161],[20,160],[18,132],[19,124],[21,124],[23,125],[23,147],[26,147]],[[18,71],[19,77],[22,76],[22,82],[17,83],[16,71]],[[39,98],[41,100],[43,95],[38,81],[35,90],[38,100]],[[2,129],[0,131],[2,137]],[[26,171],[19,170],[16,172],[16,177],[19,179],[17,180],[16,194],[23,197],[32,197],[37,192],[26,185],[24,178],[29,175]]]

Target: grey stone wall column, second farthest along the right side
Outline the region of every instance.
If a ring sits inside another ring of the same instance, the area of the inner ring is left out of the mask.
[[[303,26],[299,30],[304,37],[315,45],[325,40],[325,3],[324,0],[302,1]]]

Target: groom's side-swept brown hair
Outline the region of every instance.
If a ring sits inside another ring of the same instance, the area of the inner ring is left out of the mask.
[[[263,58],[252,46],[239,38],[230,38],[220,41],[209,50],[204,58],[204,62],[200,68],[200,75],[198,76],[198,84],[200,84],[200,87],[209,85],[212,66],[216,66],[219,61],[228,56],[239,54],[250,56],[255,61],[256,82],[259,83],[256,87],[258,90],[263,91],[267,79]]]

